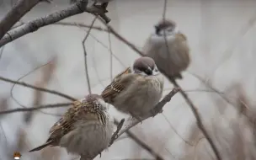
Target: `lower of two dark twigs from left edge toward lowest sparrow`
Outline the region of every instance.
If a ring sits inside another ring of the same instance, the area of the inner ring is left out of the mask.
[[[9,109],[9,110],[1,111],[0,115],[11,114],[11,113],[15,113],[15,112],[29,112],[29,111],[39,110],[39,109],[51,109],[51,108],[65,107],[68,105],[72,105],[72,103],[46,104],[46,105],[40,105],[40,106],[36,106],[36,107],[31,107],[31,108]]]

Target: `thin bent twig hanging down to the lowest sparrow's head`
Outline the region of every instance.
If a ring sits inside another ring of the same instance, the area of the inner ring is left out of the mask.
[[[93,22],[91,24],[91,27],[88,29],[87,34],[84,36],[83,41],[82,41],[82,45],[83,45],[83,56],[84,56],[84,67],[85,67],[85,75],[86,75],[86,79],[87,79],[87,84],[88,84],[88,92],[92,93],[91,90],[91,84],[90,84],[90,78],[89,78],[89,74],[88,74],[88,65],[87,65],[87,52],[86,52],[86,48],[85,48],[85,40],[88,39],[88,35],[91,32],[92,26],[95,23],[96,19],[98,16],[95,16],[93,19]]]

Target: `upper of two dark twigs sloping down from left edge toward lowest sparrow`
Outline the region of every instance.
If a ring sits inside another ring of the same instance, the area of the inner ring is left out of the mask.
[[[1,81],[4,81],[6,83],[13,83],[13,84],[18,84],[20,86],[24,86],[26,88],[33,88],[33,89],[37,89],[37,90],[40,90],[42,92],[46,92],[46,93],[52,93],[52,94],[56,94],[60,97],[63,97],[65,99],[69,99],[69,100],[72,100],[72,101],[75,101],[77,99],[75,98],[72,98],[71,96],[67,95],[67,94],[64,94],[64,93],[60,93],[60,92],[57,92],[55,90],[51,90],[51,89],[46,89],[46,88],[39,88],[39,87],[36,87],[36,86],[33,86],[31,84],[28,84],[28,83],[23,83],[23,82],[17,82],[17,81],[14,81],[12,79],[8,79],[6,77],[0,77],[0,80]]]

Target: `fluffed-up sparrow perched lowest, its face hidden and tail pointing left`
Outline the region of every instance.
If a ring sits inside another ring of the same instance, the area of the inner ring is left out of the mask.
[[[89,94],[77,100],[49,131],[45,144],[29,152],[45,147],[65,147],[68,153],[81,156],[80,160],[96,157],[109,146],[114,131],[114,120],[107,104],[98,94]]]

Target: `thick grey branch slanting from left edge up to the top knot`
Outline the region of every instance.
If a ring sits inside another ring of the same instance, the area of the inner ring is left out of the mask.
[[[44,27],[49,24],[54,24],[62,19],[66,19],[67,17],[71,17],[73,15],[83,12],[93,13],[93,11],[88,11],[88,9],[86,8],[87,3],[87,0],[79,1],[67,9],[63,9],[56,13],[46,15],[45,17],[32,20],[27,24],[24,24],[20,27],[8,31],[8,33],[3,36],[3,39],[0,40],[0,47],[6,45],[7,43],[13,40],[18,39],[23,35],[35,32],[37,29],[40,29],[41,27]]]

